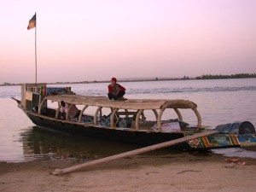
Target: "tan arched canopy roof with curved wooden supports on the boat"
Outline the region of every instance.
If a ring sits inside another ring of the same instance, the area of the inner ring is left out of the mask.
[[[125,111],[128,113],[128,110],[137,110],[136,113],[136,129],[139,129],[139,119],[141,115],[143,115],[144,110],[153,110],[155,117],[157,119],[157,127],[159,131],[161,131],[161,117],[164,113],[166,108],[173,108],[175,112],[177,113],[178,119],[183,120],[182,114],[179,112],[178,108],[189,108],[192,109],[195,112],[195,115],[197,117],[197,126],[201,127],[201,115],[197,111],[197,105],[195,102],[190,102],[187,100],[166,100],[166,99],[129,99],[126,101],[112,101],[109,100],[107,96],[80,96],[80,95],[56,95],[56,96],[45,96],[44,100],[41,102],[41,105],[39,106],[38,113],[41,113],[41,108],[44,106],[45,101],[52,101],[52,102],[67,102],[71,105],[84,105],[84,108],[82,109],[79,117],[79,122],[82,116],[82,113],[84,113],[85,108],[88,106],[95,106],[98,107],[95,113],[95,124],[96,117],[98,113],[101,113],[102,108],[111,108],[112,114],[111,114],[111,126],[114,127],[114,115],[118,112],[119,109],[125,109]],[[70,107],[71,108],[71,107]],[[56,117],[59,114],[60,105],[56,113]],[[157,112],[159,110],[159,112]]]

